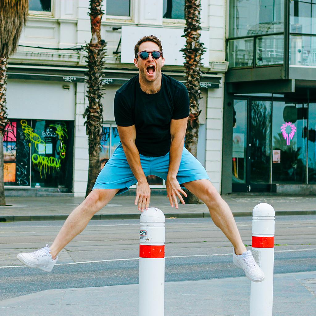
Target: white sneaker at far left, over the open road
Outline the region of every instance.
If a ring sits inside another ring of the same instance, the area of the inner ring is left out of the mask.
[[[50,251],[48,245],[46,245],[46,247],[34,252],[21,252],[16,258],[31,268],[39,268],[50,272],[58,260],[58,256],[53,260],[52,255],[49,253]]]

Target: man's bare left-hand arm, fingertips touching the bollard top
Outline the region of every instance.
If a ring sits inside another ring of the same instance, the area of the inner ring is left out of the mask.
[[[138,210],[142,210],[143,212],[145,208],[147,210],[149,207],[150,189],[140,162],[139,151],[135,144],[136,128],[135,125],[127,127],[118,126],[118,131],[127,162],[138,182],[135,205],[138,202]]]

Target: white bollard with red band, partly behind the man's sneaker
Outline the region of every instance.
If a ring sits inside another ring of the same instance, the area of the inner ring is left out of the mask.
[[[250,316],[272,316],[274,218],[275,211],[267,203],[252,211],[252,255],[264,272],[264,281],[251,282]]]

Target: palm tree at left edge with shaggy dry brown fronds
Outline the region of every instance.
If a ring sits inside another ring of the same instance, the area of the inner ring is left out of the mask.
[[[8,58],[18,46],[27,14],[28,0],[0,0],[0,205],[5,205],[3,134],[9,123],[6,106]]]

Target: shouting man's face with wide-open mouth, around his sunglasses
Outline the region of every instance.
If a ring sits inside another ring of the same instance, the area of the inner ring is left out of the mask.
[[[139,46],[138,52],[142,51],[153,52],[160,51],[160,49],[159,46],[154,42],[144,42]],[[151,54],[149,54],[149,57],[145,60],[140,58],[139,55],[137,59],[134,59],[134,64],[139,69],[140,76],[149,82],[153,82],[157,79],[161,73],[161,67],[164,65],[164,63],[165,58],[161,56],[159,59],[154,59]]]

